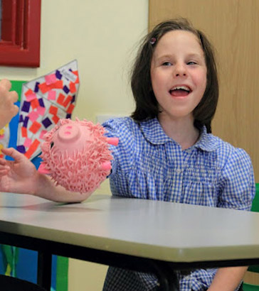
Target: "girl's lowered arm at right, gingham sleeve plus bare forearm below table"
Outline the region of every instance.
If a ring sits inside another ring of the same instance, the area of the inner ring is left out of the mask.
[[[235,148],[223,168],[217,207],[250,210],[255,195],[253,165],[245,150]],[[234,194],[235,195],[234,195]],[[248,267],[219,268],[208,291],[236,290]]]

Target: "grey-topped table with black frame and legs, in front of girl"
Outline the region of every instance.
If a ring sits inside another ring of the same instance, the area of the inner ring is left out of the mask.
[[[94,194],[61,204],[0,193],[0,243],[38,251],[38,284],[50,290],[51,256],[156,273],[259,264],[259,213]],[[172,278],[172,279],[171,279]]]

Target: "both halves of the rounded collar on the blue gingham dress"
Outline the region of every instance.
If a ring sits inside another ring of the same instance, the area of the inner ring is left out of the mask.
[[[156,118],[140,122],[140,127],[142,128],[144,137],[149,143],[161,145],[172,141],[169,136],[166,136],[166,133],[164,133],[162,126]],[[195,143],[194,147],[211,152],[218,148],[218,138],[207,133],[206,126],[203,126],[203,128],[201,128],[199,140]]]

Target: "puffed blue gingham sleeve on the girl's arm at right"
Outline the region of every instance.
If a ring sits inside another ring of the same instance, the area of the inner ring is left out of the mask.
[[[248,153],[233,148],[221,172],[218,207],[250,210],[255,196],[253,165]]]

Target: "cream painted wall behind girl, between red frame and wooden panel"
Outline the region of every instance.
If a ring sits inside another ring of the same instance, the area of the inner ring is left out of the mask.
[[[147,33],[148,0],[41,3],[41,67],[0,67],[0,79],[31,80],[77,59],[80,90],[73,119],[129,115],[134,104],[128,72]],[[97,192],[109,192],[108,183]],[[105,272],[102,265],[70,260],[69,291],[101,290]]]

